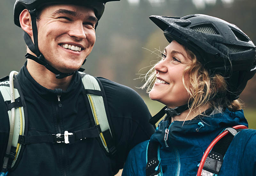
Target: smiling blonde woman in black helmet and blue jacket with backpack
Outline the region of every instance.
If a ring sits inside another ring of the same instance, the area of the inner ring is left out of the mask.
[[[150,122],[167,115],[150,141],[130,151],[122,175],[256,175],[256,130],[234,129],[248,126],[237,99],[256,72],[252,41],[207,15],[150,19],[170,44],[143,88],[166,105]]]

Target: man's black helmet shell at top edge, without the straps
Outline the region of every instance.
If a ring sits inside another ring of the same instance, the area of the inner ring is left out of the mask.
[[[14,23],[20,27],[20,13],[24,9],[34,10],[48,4],[76,4],[91,6],[95,11],[95,16],[100,19],[105,8],[105,4],[110,1],[120,0],[16,0],[14,4]]]

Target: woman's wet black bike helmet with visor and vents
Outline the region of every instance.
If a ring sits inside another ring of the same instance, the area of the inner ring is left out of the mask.
[[[256,73],[256,50],[251,39],[236,25],[208,15],[182,18],[150,16],[165,38],[188,47],[213,74],[221,74],[228,84],[228,99],[236,100]]]

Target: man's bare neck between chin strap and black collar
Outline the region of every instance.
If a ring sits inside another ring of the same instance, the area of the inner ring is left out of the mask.
[[[56,88],[67,90],[73,77],[73,75],[71,75],[62,79],[57,79],[54,73],[49,71],[43,65],[30,59],[28,59],[27,69],[29,74],[38,84],[52,90]]]

